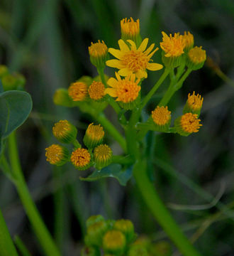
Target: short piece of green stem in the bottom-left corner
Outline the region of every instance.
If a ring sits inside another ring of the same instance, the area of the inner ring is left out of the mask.
[[[11,235],[6,226],[4,216],[0,210],[0,256],[18,256],[16,247],[13,245]]]

